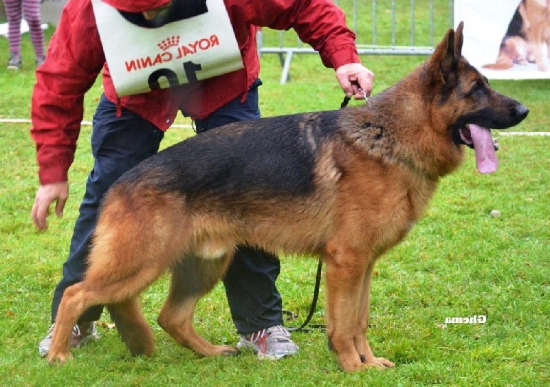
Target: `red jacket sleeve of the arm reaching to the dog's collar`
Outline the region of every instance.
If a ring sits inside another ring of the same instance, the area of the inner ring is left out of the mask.
[[[301,41],[319,52],[325,66],[337,69],[360,63],[355,34],[331,0],[225,0],[225,4],[235,29],[250,23],[274,30],[293,28]]]

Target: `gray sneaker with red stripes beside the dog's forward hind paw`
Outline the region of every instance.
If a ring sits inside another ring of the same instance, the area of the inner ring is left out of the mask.
[[[298,353],[298,346],[290,340],[290,333],[281,325],[275,325],[267,329],[241,335],[241,340],[236,344],[239,349],[251,348],[260,360],[278,360],[281,357]]]

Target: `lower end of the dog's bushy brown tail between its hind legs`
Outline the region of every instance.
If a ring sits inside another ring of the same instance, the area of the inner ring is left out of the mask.
[[[139,298],[107,305],[107,309],[130,353],[151,356],[155,346],[153,331],[143,316]]]

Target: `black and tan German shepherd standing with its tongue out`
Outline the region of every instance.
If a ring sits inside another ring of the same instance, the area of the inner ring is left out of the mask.
[[[133,355],[151,355],[139,297],[166,270],[160,326],[200,355],[237,353],[202,338],[192,319],[235,247],[250,245],[322,257],[338,363],[393,367],[366,340],[375,261],[421,217],[464,144],[492,172],[487,128],[528,113],[461,56],[462,29],[448,30],[426,63],[364,106],[229,124],[129,170],[102,203],[83,282],[63,295],[49,362],[72,356],[72,327],[92,305],[107,306]]]

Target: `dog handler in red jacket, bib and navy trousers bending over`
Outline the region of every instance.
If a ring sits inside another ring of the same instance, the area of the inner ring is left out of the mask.
[[[91,134],[94,166],[74,226],[63,278],[54,291],[52,323],[63,291],[83,277],[100,201],[109,186],[157,153],[178,110],[197,133],[259,118],[256,27],[294,28],[336,69],[347,96],[370,94],[373,74],[360,64],[355,35],[331,0],[69,0],[36,71],[31,135],[40,186],[32,218],[45,230],[50,204],[61,217],[69,195],[86,91],[102,72],[104,94]],[[275,285],[276,256],[240,247],[223,281],[239,347],[278,359],[298,347],[282,327]],[[97,338],[102,307],[89,309],[73,331],[73,346]],[[39,344],[50,347],[53,326]]]

